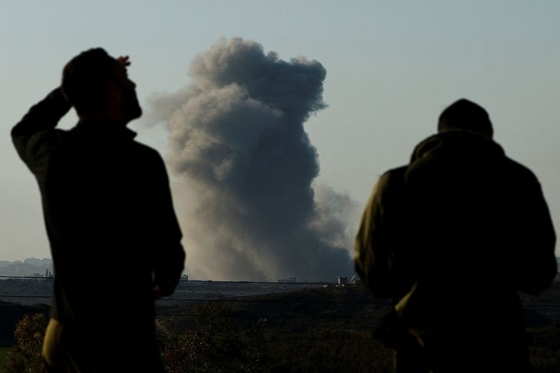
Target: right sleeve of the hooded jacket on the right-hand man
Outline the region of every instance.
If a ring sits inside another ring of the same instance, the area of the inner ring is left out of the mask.
[[[548,288],[556,276],[556,234],[540,183],[532,173],[518,203],[523,221],[518,232],[512,232],[517,288],[536,294]]]

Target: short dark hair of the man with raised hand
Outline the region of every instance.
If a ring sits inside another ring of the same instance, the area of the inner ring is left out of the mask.
[[[76,111],[89,114],[106,102],[106,83],[115,78],[118,61],[102,48],[81,52],[64,66],[62,92]]]

